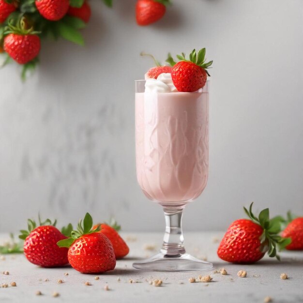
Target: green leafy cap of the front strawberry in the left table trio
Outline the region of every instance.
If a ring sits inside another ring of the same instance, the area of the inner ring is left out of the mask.
[[[98,225],[98,227],[94,229],[92,229],[92,226],[92,217],[87,212],[84,219],[79,221],[77,229],[71,231],[71,237],[58,241],[57,245],[59,247],[70,247],[80,237],[100,231],[101,229],[100,225]]]

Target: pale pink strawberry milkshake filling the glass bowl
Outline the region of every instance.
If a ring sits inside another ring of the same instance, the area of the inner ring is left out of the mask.
[[[136,173],[144,194],[188,202],[206,186],[208,92],[136,93]]]

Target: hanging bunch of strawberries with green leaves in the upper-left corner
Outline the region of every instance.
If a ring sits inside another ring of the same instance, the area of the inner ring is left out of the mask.
[[[103,0],[112,6],[112,0]],[[79,32],[91,17],[87,0],[0,0],[0,53],[6,52],[4,65],[13,59],[23,65],[22,77],[35,67],[40,39],[62,37],[84,45]]]

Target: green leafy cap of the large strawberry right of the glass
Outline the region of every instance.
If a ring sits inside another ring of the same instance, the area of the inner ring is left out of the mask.
[[[281,251],[291,242],[290,238],[282,238],[278,235],[278,233],[281,232],[281,223],[284,219],[281,216],[275,216],[270,219],[268,208],[262,210],[258,217],[256,217],[252,212],[253,203],[254,202],[250,204],[249,210],[243,207],[244,212],[254,223],[263,228],[263,233],[259,238],[263,246],[263,252],[267,252],[268,256],[271,258],[276,257],[280,260],[279,255],[277,255],[276,247],[278,246],[279,251]]]

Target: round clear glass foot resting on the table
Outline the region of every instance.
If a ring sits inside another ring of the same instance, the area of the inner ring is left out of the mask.
[[[133,263],[133,267],[156,272],[201,272],[211,270],[212,263],[201,261],[189,254],[171,257],[158,253],[151,258]]]

